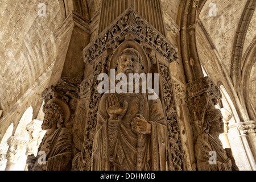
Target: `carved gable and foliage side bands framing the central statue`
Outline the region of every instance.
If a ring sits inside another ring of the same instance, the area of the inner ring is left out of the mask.
[[[139,45],[138,47],[134,45]],[[126,46],[124,46],[126,45]],[[127,46],[128,45],[128,46]],[[96,39],[84,49],[84,60],[87,64],[85,69],[92,69],[80,85],[80,101],[77,107],[83,117],[84,145],[81,152],[73,159],[73,169],[90,170],[91,155],[93,150],[93,138],[96,131],[97,111],[102,95],[97,92],[99,81],[97,76],[100,73],[109,75],[109,69],[113,67],[110,60],[117,49],[133,47],[143,49],[146,53],[149,73],[160,73],[159,90],[164,90],[161,95],[161,102],[166,114],[168,138],[170,150],[168,151],[169,169],[181,170],[183,166],[183,149],[180,142],[180,130],[177,121],[175,104],[172,92],[171,75],[168,64],[176,61],[177,49],[154,27],[139,16],[132,8],[127,9],[123,14],[111,23]],[[141,47],[141,48],[139,48]],[[118,52],[118,51],[117,51]],[[158,58],[157,58],[158,57]],[[92,66],[89,66],[92,65]],[[82,114],[83,113],[83,114]],[[77,115],[78,116],[78,115]],[[81,118],[77,121],[81,122]],[[79,122],[77,122],[79,125]]]

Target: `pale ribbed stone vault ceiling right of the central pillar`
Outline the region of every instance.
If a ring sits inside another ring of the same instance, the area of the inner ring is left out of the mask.
[[[250,119],[256,109],[256,2],[215,0],[217,16],[207,1],[196,24],[197,51],[207,75],[223,84],[237,107],[246,107]],[[236,103],[235,103],[236,102]],[[238,104],[239,102],[239,104]]]

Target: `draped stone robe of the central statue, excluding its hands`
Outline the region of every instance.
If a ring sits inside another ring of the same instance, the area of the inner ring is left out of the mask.
[[[168,134],[163,107],[159,100],[148,100],[147,94],[117,94],[128,108],[122,121],[110,121],[105,93],[98,107],[96,134],[93,141],[92,170],[168,170]],[[137,114],[151,125],[151,134],[137,134],[131,122]]]

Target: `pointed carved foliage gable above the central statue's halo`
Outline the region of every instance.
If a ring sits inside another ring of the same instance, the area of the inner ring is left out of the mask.
[[[175,46],[130,7],[84,49],[85,63],[92,64],[92,60],[120,41],[127,32],[137,35],[138,39],[147,43],[170,62],[178,59]]]

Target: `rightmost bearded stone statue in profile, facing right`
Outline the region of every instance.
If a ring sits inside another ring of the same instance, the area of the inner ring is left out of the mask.
[[[205,114],[204,133],[199,135],[196,142],[196,160],[199,171],[234,171],[238,167],[234,163],[230,151],[224,150],[218,138],[224,133],[221,111],[209,109]],[[210,159],[213,156],[212,160]]]

